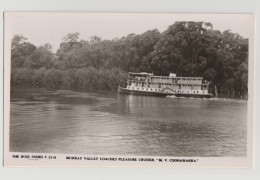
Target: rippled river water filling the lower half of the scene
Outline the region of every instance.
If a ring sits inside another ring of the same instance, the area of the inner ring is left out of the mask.
[[[11,91],[10,151],[243,157],[247,101]]]

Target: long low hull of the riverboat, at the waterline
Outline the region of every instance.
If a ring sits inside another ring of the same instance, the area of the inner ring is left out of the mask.
[[[130,90],[123,87],[118,87],[118,92],[121,94],[130,95],[145,95],[145,96],[176,96],[176,97],[193,97],[193,98],[211,98],[211,94],[183,94],[183,93],[168,93],[168,92],[151,92],[151,91],[138,91]]]

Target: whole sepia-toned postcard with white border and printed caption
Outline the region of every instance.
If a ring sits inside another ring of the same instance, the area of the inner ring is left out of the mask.
[[[6,165],[251,166],[252,14],[4,20]]]

